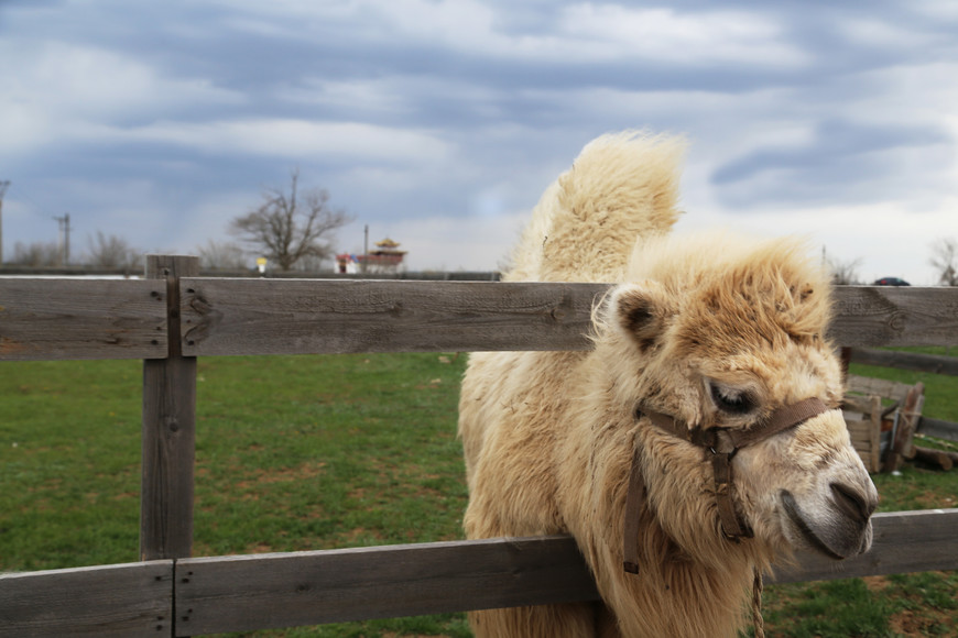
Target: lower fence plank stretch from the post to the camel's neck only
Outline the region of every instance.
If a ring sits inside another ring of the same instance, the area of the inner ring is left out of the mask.
[[[177,631],[597,600],[568,537],[434,542],[177,562]]]

